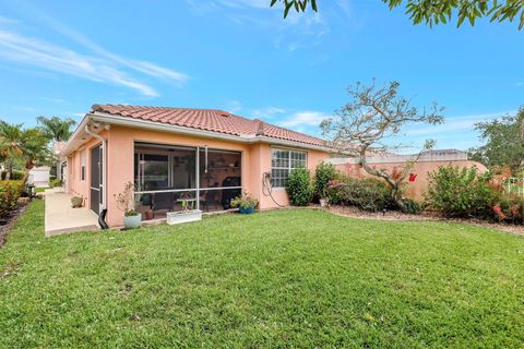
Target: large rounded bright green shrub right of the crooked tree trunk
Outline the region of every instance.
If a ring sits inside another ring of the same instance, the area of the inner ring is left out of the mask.
[[[492,218],[497,191],[490,178],[476,167],[442,166],[429,174],[426,203],[445,217]]]

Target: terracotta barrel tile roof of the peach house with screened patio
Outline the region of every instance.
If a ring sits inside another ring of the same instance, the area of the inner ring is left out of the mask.
[[[237,136],[267,136],[277,140],[324,146],[324,141],[261,120],[246,119],[218,109],[94,105],[93,112],[140,119],[177,127],[219,132]]]

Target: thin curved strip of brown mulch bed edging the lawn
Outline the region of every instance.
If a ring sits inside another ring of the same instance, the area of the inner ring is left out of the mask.
[[[352,218],[364,218],[364,219],[378,219],[378,220],[400,220],[400,221],[448,221],[448,222],[463,222],[471,224],[475,226],[487,227],[491,229],[502,230],[505,232],[512,232],[516,234],[524,236],[524,226],[516,225],[507,225],[507,224],[495,224],[489,221],[484,221],[480,219],[464,219],[464,218],[443,218],[436,213],[421,213],[420,215],[409,215],[403,214],[395,210],[389,210],[386,213],[373,213],[365,212],[357,207],[353,206],[331,206],[327,208],[329,212],[335,215],[352,217]]]

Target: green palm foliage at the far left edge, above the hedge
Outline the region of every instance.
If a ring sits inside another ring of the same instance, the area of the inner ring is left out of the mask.
[[[5,179],[11,178],[16,163],[23,161],[31,169],[35,161],[45,161],[49,156],[47,144],[48,139],[39,129],[23,129],[23,123],[0,120],[0,158],[5,165]]]

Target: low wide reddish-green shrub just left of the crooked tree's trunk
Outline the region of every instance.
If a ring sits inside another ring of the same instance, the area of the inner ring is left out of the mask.
[[[391,190],[384,182],[372,178],[334,180],[327,186],[327,197],[334,205],[357,206],[371,212],[392,207]]]

